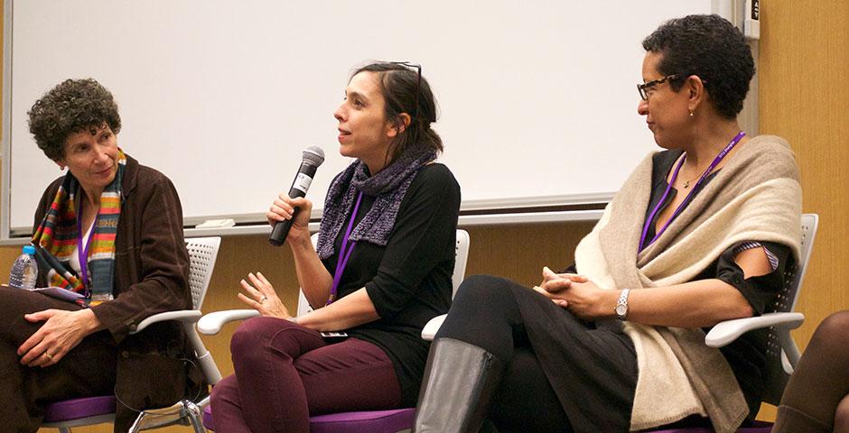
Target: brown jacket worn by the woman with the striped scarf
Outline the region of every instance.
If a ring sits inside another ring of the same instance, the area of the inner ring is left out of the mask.
[[[51,206],[61,181],[53,181],[44,191],[35,226]],[[179,324],[157,323],[130,334],[156,313],[192,308],[188,275],[189,254],[176,189],[162,173],[127,156],[116,237],[115,299],[92,307],[117,345],[116,392],[124,404],[117,403],[115,431],[126,431],[135,419],[130,408],[170,406],[201,386],[200,373],[188,366],[196,361]]]

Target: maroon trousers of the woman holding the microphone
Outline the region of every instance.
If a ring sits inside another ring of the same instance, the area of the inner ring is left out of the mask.
[[[307,433],[311,415],[401,402],[392,361],[357,338],[329,344],[288,320],[252,318],[238,327],[230,352],[236,373],[212,389],[218,431]]]

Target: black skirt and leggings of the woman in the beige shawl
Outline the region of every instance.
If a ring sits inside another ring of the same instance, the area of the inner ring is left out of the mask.
[[[530,305],[531,307],[527,307]],[[537,315],[538,310],[545,314]],[[558,336],[538,345],[539,317],[554,315]],[[506,365],[490,404],[499,431],[627,431],[637,383],[637,356],[628,336],[585,323],[542,295],[506,279],[463,281],[436,338],[480,346]],[[541,352],[546,357],[541,357]],[[555,355],[552,355],[555,354]],[[551,365],[543,364],[544,359]],[[611,361],[612,359],[612,361]],[[557,389],[552,375],[568,377]]]

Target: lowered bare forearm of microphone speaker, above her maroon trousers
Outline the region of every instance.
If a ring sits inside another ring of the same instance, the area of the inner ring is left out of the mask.
[[[380,318],[366,289],[357,290],[297,318],[298,324],[318,331],[337,331],[373,322]]]

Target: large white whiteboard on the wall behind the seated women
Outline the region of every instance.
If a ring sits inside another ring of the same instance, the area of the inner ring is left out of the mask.
[[[65,78],[113,92],[118,144],[173,180],[187,222],[262,219],[308,145],[328,155],[308,196],[321,207],[350,163],[332,112],[366,60],[423,65],[463,208],[609,197],[655,146],[637,115],[640,42],[711,11],[711,0],[5,1],[2,201],[24,233],[61,174],[26,111]]]

